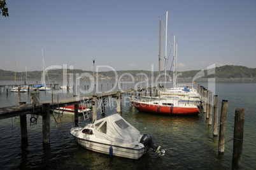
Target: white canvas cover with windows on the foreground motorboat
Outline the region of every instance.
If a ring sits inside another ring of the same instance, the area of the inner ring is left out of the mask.
[[[97,138],[113,142],[132,143],[140,138],[140,132],[118,113],[96,120],[93,127]]]

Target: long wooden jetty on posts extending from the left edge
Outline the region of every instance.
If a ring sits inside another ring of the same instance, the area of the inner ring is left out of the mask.
[[[92,104],[93,115],[92,120],[97,119],[97,99],[103,99],[104,97],[115,97],[117,99],[117,113],[121,111],[121,96],[123,94],[131,94],[134,91],[153,90],[156,87],[145,87],[139,89],[122,90],[117,92],[108,92],[97,95],[83,96],[83,97],[71,97],[66,99],[59,99],[52,101],[39,102],[36,99],[39,92],[31,93],[31,104],[20,103],[19,106],[8,106],[0,108],[0,120],[4,118],[20,117],[20,129],[22,141],[27,141],[27,114],[41,114],[43,117],[43,143],[50,143],[50,109],[54,110],[61,106],[75,104],[75,124],[78,124],[78,104],[81,101],[89,101]],[[38,95],[39,96],[39,95]],[[36,101],[36,102],[35,102]]]

